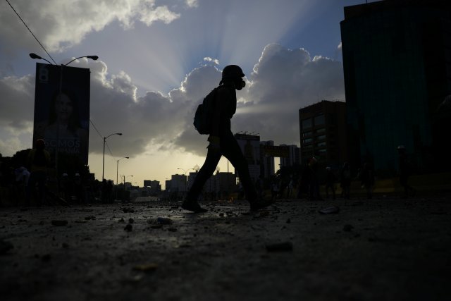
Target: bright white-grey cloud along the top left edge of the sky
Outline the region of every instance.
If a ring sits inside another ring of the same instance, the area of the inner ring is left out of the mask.
[[[78,0],[70,4],[60,0],[17,0],[11,4],[50,52],[73,47],[89,32],[103,30],[113,22],[128,29],[137,22],[150,26],[157,21],[167,24],[180,18],[180,13],[171,11],[168,6],[157,6],[156,0]],[[188,8],[196,4],[197,1],[187,1]],[[36,47],[35,39],[6,1],[0,3],[0,20],[7,24],[0,27],[1,52],[11,54],[18,47]],[[17,39],[18,36],[29,38]]]

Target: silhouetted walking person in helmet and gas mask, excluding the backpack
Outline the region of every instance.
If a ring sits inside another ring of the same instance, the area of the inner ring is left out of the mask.
[[[235,114],[237,108],[237,95],[235,90],[242,90],[245,87],[245,76],[242,69],[236,65],[229,65],[223,69],[222,80],[216,88],[214,96],[209,138],[207,147],[208,152],[202,168],[197,173],[194,183],[187,192],[187,197],[182,204],[182,208],[196,213],[206,212],[206,209],[200,207],[197,199],[206,180],[213,175],[221,156],[226,156],[235,167],[240,177],[247,201],[251,210],[258,210],[267,207],[270,202],[261,202],[254,188],[254,183],[249,176],[247,161],[243,156],[233,133],[230,130],[230,119]]]

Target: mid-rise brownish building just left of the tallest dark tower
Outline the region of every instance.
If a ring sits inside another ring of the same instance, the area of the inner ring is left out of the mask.
[[[323,100],[299,109],[301,156],[315,156],[323,164],[347,161],[346,103]]]

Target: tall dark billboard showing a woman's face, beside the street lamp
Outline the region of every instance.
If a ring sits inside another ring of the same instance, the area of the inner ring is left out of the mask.
[[[52,159],[75,154],[87,164],[89,69],[36,64],[33,146],[40,138]]]

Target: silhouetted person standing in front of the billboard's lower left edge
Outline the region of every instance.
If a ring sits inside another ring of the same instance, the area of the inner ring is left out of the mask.
[[[36,147],[28,154],[28,164],[30,165],[30,178],[28,179],[27,195],[25,202],[30,204],[31,195],[34,194],[37,184],[37,206],[44,202],[45,185],[47,181],[47,168],[50,166],[50,154],[45,149],[43,139],[36,140]]]

